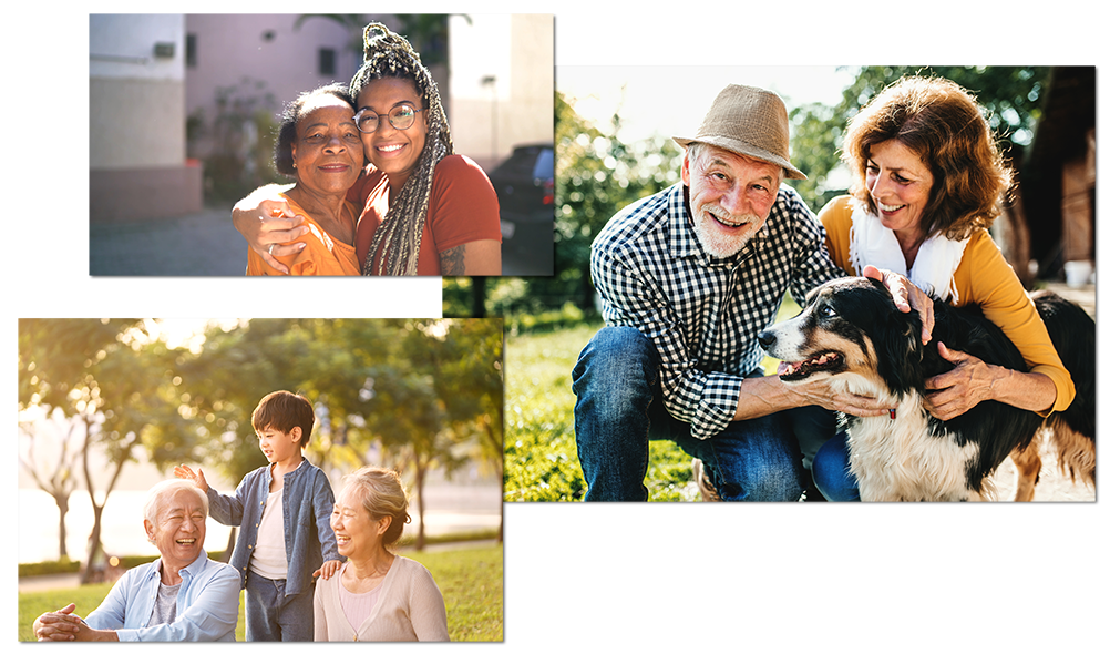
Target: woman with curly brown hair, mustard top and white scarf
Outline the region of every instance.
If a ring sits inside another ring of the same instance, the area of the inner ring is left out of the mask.
[[[926,381],[929,412],[951,420],[987,400],[1046,416],[1067,409],[1071,375],[987,232],[1011,182],[975,98],[946,79],[904,78],[851,119],[842,159],[855,184],[818,215],[833,261],[850,274],[865,265],[892,270],[955,305],[979,305],[1029,366],[989,365],[938,343],[955,369]],[[826,496],[851,499],[846,462],[842,434],[814,457]]]

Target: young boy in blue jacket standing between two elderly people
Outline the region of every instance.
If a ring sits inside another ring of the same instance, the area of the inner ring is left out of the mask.
[[[314,423],[301,395],[263,398],[251,424],[270,463],[243,477],[234,496],[210,489],[200,469],[173,470],[208,494],[212,517],[242,525],[231,565],[246,588],[248,641],[311,641],[313,573],[331,576],[343,561],[331,527],[332,485],[302,454]]]

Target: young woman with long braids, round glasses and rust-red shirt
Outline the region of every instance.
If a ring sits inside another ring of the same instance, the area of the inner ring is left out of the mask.
[[[500,275],[496,192],[476,163],[453,153],[431,73],[385,26],[366,26],[363,39],[351,94],[369,165],[347,195],[363,207],[355,234],[362,273]],[[253,252],[279,271],[278,258],[295,254],[303,245],[290,241],[306,231],[280,191],[263,187],[232,210]]]

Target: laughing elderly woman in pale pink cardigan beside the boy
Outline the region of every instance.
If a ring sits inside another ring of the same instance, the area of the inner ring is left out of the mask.
[[[332,530],[347,562],[316,583],[316,641],[447,641],[443,595],[420,563],[389,551],[408,517],[392,470],[363,467],[346,477]]]

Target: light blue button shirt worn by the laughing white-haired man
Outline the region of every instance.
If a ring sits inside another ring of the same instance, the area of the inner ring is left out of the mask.
[[[129,570],[84,618],[98,630],[115,630],[120,641],[234,641],[239,622],[239,575],[201,550],[181,571],[178,616],[171,624],[147,626],[154,613],[162,560]]]

